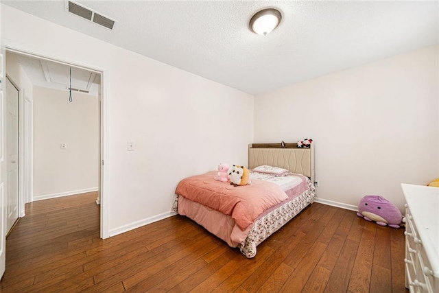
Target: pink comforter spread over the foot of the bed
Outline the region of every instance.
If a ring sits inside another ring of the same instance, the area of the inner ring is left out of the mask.
[[[242,230],[263,211],[288,198],[274,183],[252,180],[250,185],[234,187],[213,179],[215,174],[213,171],[181,180],[176,194],[231,215]]]

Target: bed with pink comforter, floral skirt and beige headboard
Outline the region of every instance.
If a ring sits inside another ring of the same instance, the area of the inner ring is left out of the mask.
[[[276,173],[278,168],[289,172]],[[215,171],[183,179],[176,189],[177,197],[173,209],[204,226],[230,247],[239,248],[246,257],[252,258],[257,254],[257,246],[263,240],[313,203],[313,144],[311,148],[298,148],[296,143],[250,144],[248,169],[252,182],[241,187],[213,180]],[[274,170],[276,175],[273,176],[270,170]],[[204,194],[204,189],[210,189],[211,185],[216,185],[212,187],[213,190],[221,187],[226,193],[222,194],[221,191],[221,196],[215,192]],[[198,191],[202,192],[202,196],[195,196]],[[246,194],[241,195],[241,191]],[[223,198],[229,197],[228,192],[233,193],[230,197],[237,197],[239,201],[222,202]],[[253,202],[248,201],[259,200],[259,194],[265,204],[263,210],[259,210],[257,204],[252,208]],[[212,202],[217,202],[218,206],[212,206]],[[246,202],[246,206],[250,202],[251,211],[246,210],[235,215],[237,206],[243,202]]]

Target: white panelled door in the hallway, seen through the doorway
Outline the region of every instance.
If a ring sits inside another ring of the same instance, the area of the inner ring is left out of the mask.
[[[6,159],[8,193],[6,196],[6,233],[19,218],[19,90],[6,78]]]

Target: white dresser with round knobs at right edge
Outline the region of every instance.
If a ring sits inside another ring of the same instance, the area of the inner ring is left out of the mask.
[[[439,293],[439,188],[401,184],[405,196],[405,287]]]

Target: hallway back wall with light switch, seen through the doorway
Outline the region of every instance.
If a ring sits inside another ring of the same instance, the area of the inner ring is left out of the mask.
[[[34,200],[99,186],[99,101],[84,93],[72,97],[34,86]]]

